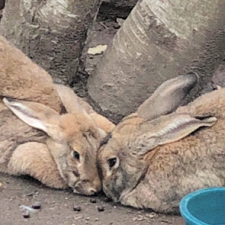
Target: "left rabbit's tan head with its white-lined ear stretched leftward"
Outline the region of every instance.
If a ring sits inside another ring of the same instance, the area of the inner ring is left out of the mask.
[[[96,154],[105,132],[86,114],[59,115],[39,103],[3,101],[22,121],[48,135],[46,145],[62,178],[75,193],[92,195],[100,191]]]

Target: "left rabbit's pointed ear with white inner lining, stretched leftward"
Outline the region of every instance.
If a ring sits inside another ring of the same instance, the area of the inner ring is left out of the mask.
[[[58,126],[59,114],[48,106],[9,98],[4,98],[3,102],[23,122],[46,132],[49,136],[52,136]]]

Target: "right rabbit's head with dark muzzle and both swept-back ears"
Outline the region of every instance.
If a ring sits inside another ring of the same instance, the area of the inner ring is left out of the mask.
[[[137,113],[121,121],[102,142],[97,162],[108,197],[123,202],[141,182],[146,182],[149,163],[160,146],[215,123],[214,117],[173,113],[196,81],[197,77],[189,74],[163,83]]]

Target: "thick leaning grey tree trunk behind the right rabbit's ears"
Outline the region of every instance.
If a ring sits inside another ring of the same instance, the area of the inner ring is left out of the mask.
[[[163,81],[189,71],[205,84],[224,55],[225,1],[140,0],[108,46],[89,95],[118,121]]]

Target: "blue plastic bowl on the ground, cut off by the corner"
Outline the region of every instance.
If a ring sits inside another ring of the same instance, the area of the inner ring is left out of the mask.
[[[186,225],[225,225],[225,187],[186,195],[180,202],[180,213]]]

